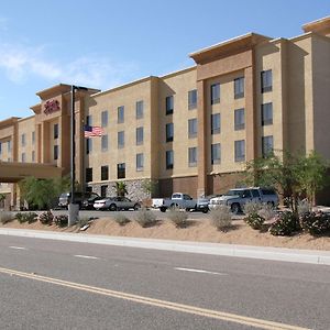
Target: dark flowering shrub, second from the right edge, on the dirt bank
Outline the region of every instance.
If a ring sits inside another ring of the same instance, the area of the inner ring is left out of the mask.
[[[293,234],[299,229],[300,226],[297,217],[290,211],[285,211],[283,213],[279,213],[276,221],[271,224],[270,233],[272,235],[285,237]]]

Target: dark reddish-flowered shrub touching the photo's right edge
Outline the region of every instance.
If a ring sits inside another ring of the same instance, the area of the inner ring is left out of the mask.
[[[302,230],[312,235],[330,231],[330,217],[323,212],[306,212],[299,220]]]

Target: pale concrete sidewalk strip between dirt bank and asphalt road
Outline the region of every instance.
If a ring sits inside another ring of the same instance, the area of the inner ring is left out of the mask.
[[[59,233],[41,230],[22,230],[1,228],[0,235],[14,235],[24,238],[59,240],[70,242],[84,242],[92,244],[106,244],[128,248],[156,249],[164,251],[239,256],[263,258],[272,261],[308,263],[330,265],[330,251],[298,250],[267,246],[251,246],[220,243],[204,243],[191,241],[153,240],[139,238],[123,238],[109,235],[95,235],[87,233]]]

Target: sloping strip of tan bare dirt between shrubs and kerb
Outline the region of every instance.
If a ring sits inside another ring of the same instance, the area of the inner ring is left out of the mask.
[[[70,228],[58,228],[55,224],[44,226],[40,222],[21,224],[16,220],[0,227],[80,232],[79,228],[76,226]],[[210,223],[210,220],[191,221],[187,228],[176,228],[169,220],[160,220],[153,227],[142,228],[135,221],[131,221],[125,226],[119,226],[112,218],[102,218],[91,221],[90,227],[84,233],[330,251],[329,237],[315,238],[305,233],[294,237],[273,237],[268,232],[253,230],[246,226],[243,220],[234,220],[231,229],[227,232],[221,232]]]

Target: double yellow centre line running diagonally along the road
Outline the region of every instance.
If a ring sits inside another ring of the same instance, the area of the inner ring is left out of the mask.
[[[79,283],[75,283],[75,282],[67,282],[67,280],[63,280],[63,279],[58,279],[58,278],[54,278],[54,277],[46,277],[46,276],[42,276],[42,275],[19,272],[19,271],[10,270],[10,268],[0,267],[0,273],[8,274],[10,276],[14,275],[14,276],[34,279],[34,280],[38,280],[38,282],[51,283],[51,284],[69,287],[69,288],[74,288],[74,289],[79,289],[82,292],[94,293],[94,294],[98,294],[98,295],[103,295],[103,296],[108,296],[108,297],[112,297],[112,298],[120,298],[120,299],[130,300],[130,301],[134,301],[134,302],[139,302],[139,304],[156,306],[156,307],[161,307],[161,308],[182,311],[182,312],[186,312],[186,314],[193,314],[193,315],[207,317],[207,318],[213,318],[213,319],[218,319],[218,320],[222,320],[222,321],[251,326],[251,327],[260,328],[260,329],[309,330],[308,328],[301,328],[301,327],[289,326],[289,324],[284,324],[284,323],[279,323],[279,322],[274,322],[274,321],[267,321],[267,320],[263,320],[263,319],[244,317],[244,316],[224,312],[224,311],[199,308],[199,307],[195,307],[195,306],[190,306],[190,305],[160,300],[160,299],[154,299],[154,298],[150,298],[150,297],[138,296],[138,295],[133,295],[133,294],[127,294],[127,293],[110,290],[110,289],[106,289],[106,288],[101,288],[101,287],[79,284]]]

